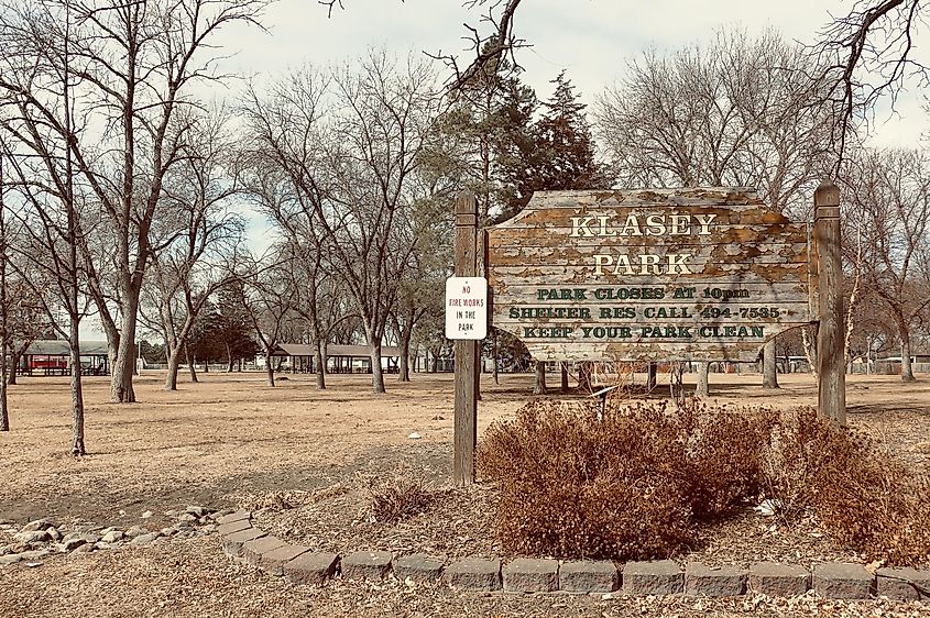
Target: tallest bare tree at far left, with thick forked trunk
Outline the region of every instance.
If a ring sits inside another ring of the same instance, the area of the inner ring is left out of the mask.
[[[75,167],[101,210],[106,236],[113,243],[106,267],[91,264],[91,279],[112,268],[116,295],[91,280],[90,293],[107,332],[112,367],[113,401],[134,401],[132,369],[139,297],[153,246],[150,231],[161,213],[168,169],[185,156],[189,129],[178,110],[196,101],[196,84],[221,79],[215,70],[212,40],[233,23],[255,24],[265,0],[48,0],[42,10],[11,1],[2,9],[4,46],[44,57],[46,70],[62,69],[59,55],[45,53],[63,41],[62,24],[73,24],[67,40],[80,79],[74,98],[76,126],[65,126],[57,113],[61,96],[2,71],[0,89],[29,102],[34,122],[52,131],[43,140],[67,144]],[[63,19],[67,14],[68,20]],[[92,126],[95,131],[83,131]],[[35,155],[48,144],[24,142]],[[85,247],[86,260],[94,253]],[[114,314],[111,302],[118,304]]]

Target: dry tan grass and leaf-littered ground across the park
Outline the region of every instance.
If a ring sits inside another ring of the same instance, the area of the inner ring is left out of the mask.
[[[67,455],[70,418],[62,378],[24,378],[10,394],[12,431],[0,434],[0,519],[24,523],[92,521],[130,527],[145,510],[149,525],[186,505],[260,509],[263,525],[285,537],[340,551],[429,548],[447,555],[491,554],[499,548],[475,511],[493,501],[486,487],[442,489],[451,466],[450,375],[415,374],[389,394],[370,393],[368,376],[329,376],[318,391],[313,376],[288,375],[275,388],[260,374],[208,374],[201,384],[161,389],[163,376],[139,378],[140,404],[107,401],[106,378],[85,382],[89,454]],[[557,379],[557,376],[551,376]],[[660,376],[663,377],[663,376]],[[758,375],[712,375],[712,399],[776,408],[812,405],[813,378],[779,376],[766,391]],[[930,465],[930,376],[902,385],[896,376],[849,376],[850,422],[910,462]],[[691,376],[693,379],[693,376]],[[686,383],[688,376],[686,376]],[[551,382],[550,382],[551,385]],[[514,413],[529,396],[532,376],[504,375],[482,384],[479,430]],[[663,393],[667,391],[665,389]],[[418,440],[408,435],[417,432]],[[413,471],[446,499],[426,521],[385,528],[360,506],[366,483]],[[291,503],[291,504],[287,504]],[[296,506],[299,508],[285,508]],[[485,512],[486,515],[486,512]],[[803,542],[801,541],[803,539]],[[747,514],[696,548],[708,562],[743,563],[762,556],[809,562],[843,558],[842,548],[800,530],[772,529]],[[741,549],[742,548],[742,549]],[[794,554],[796,555],[792,555]],[[407,588],[332,583],[291,586],[228,561],[216,538],[165,541],[151,548],[70,554],[36,569],[0,570],[0,617],[32,616],[632,616],[632,615],[927,615],[930,606],[883,602],[836,604],[747,597],[600,599],[458,595],[441,587]]]

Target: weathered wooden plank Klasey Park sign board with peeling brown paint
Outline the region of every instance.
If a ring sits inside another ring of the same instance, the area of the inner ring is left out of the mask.
[[[754,361],[811,321],[807,224],[751,189],[537,192],[488,229],[486,274],[540,361]]]

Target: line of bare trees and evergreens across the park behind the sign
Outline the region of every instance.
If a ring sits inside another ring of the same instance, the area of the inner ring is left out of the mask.
[[[23,343],[65,339],[72,451],[85,452],[77,369],[90,314],[117,402],[135,400],[143,331],[164,342],[168,389],[183,362],[231,368],[287,341],[310,343],[316,367],[328,343],[368,344],[376,393],[382,345],[394,344],[409,379],[412,351],[449,350],[441,290],[462,189],[482,224],[533,191],[609,186],[753,186],[805,219],[832,176],[845,196],[847,353],[899,346],[912,378],[909,345],[930,330],[926,154],[865,146],[867,124],[849,122],[825,47],[722,30],[649,49],[589,120],[566,71],[541,101],[523,82],[517,4],[451,78],[448,63],[373,49],[217,101],[205,93],[231,77],[220,35],[260,26],[261,0],[0,2],[3,423]],[[249,243],[255,219],[273,239],[261,253]],[[523,354],[499,332],[486,349],[495,371]],[[764,353],[773,379],[776,352]],[[325,371],[316,379],[326,388]]]

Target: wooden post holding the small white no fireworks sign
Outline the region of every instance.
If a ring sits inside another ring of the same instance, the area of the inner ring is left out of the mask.
[[[478,200],[470,191],[463,191],[456,201],[456,276],[478,274]],[[474,483],[480,343],[467,339],[456,341],[452,483],[457,487]]]

